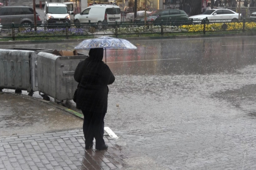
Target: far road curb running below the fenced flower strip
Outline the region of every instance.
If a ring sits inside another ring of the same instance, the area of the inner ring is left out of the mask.
[[[174,37],[128,37],[126,40],[137,41],[137,40],[159,40],[159,39],[184,39],[184,38],[210,38],[210,37],[248,37],[255,36],[256,33],[232,33],[232,34],[217,34],[217,35],[177,35]],[[85,38],[89,39],[89,38]],[[63,39],[63,40],[35,40],[35,41],[9,41],[0,42],[0,45],[21,45],[21,44],[31,44],[31,43],[80,43],[85,39]]]

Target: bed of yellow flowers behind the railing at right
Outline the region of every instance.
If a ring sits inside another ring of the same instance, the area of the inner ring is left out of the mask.
[[[226,24],[227,31],[230,30],[243,30],[243,23],[209,23],[205,25],[205,31],[220,31],[223,30],[222,26]],[[224,26],[223,26],[224,27]],[[188,32],[200,32],[204,31],[204,25],[182,25],[181,29],[185,29]],[[245,30],[256,30],[256,23],[254,22],[246,22],[245,23]]]

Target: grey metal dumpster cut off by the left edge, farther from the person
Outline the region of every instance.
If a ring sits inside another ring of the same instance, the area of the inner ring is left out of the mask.
[[[47,49],[34,48],[6,48],[0,49],[0,91],[2,89],[15,89],[15,92],[27,90],[32,96],[35,79],[32,77],[32,56],[34,53],[44,51],[52,52]]]

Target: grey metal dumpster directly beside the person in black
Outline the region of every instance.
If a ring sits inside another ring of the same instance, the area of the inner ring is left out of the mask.
[[[37,55],[39,94],[51,96],[54,101],[73,99],[78,84],[73,77],[76,66],[88,55],[61,57],[47,52]]]

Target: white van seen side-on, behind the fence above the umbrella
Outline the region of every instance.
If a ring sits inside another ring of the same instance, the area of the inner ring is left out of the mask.
[[[102,23],[121,21],[121,10],[119,6],[109,4],[94,4],[85,8],[81,13],[75,15],[75,23]]]

